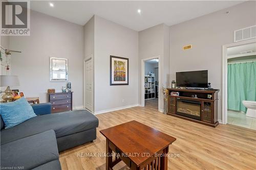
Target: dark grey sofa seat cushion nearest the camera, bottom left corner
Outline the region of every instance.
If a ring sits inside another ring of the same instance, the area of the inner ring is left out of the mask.
[[[32,169],[58,160],[58,158],[57,142],[53,130],[1,145],[1,168]]]

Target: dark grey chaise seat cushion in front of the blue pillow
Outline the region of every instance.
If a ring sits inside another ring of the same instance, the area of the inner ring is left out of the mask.
[[[98,118],[86,110],[75,110],[33,117],[22,124],[1,131],[1,143],[7,143],[26,136],[53,129],[56,137],[94,129]]]

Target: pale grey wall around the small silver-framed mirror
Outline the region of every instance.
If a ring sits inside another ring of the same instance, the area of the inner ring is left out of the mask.
[[[69,59],[69,82],[72,83],[73,106],[83,105],[83,27],[39,12],[31,11],[31,35],[11,36],[12,75],[18,75],[20,91],[25,96],[39,96],[47,102],[49,88],[61,90],[67,82],[49,81],[50,57]]]

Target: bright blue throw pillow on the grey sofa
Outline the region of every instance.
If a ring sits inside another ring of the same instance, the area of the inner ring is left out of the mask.
[[[5,123],[5,129],[14,127],[36,116],[32,106],[24,97],[14,102],[0,103],[0,110],[1,117]]]

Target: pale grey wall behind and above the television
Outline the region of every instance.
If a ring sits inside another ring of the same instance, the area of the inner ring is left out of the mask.
[[[177,71],[208,69],[213,88],[222,88],[222,45],[233,42],[233,31],[256,25],[256,2],[204,15],[170,27],[170,81]],[[229,11],[229,14],[225,14]],[[191,50],[182,46],[192,44]],[[219,92],[218,119],[222,119]]]

